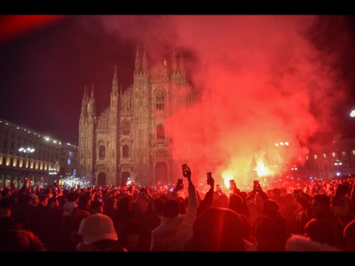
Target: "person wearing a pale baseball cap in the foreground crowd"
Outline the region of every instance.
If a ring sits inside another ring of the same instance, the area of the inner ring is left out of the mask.
[[[114,223],[105,214],[91,214],[81,220],[76,250],[88,251],[117,251],[127,252],[127,249],[118,243],[118,235]]]

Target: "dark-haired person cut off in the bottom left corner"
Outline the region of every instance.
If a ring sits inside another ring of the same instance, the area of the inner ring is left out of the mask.
[[[0,230],[0,252],[44,252],[46,246],[31,230]]]

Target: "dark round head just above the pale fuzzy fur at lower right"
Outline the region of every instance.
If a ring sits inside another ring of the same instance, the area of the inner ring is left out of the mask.
[[[323,219],[312,219],[304,226],[304,235],[321,244],[335,244],[333,225]]]

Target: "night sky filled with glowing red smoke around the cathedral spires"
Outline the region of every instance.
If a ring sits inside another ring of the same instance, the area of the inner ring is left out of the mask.
[[[103,111],[114,66],[125,89],[146,45],[149,68],[172,48],[186,56],[202,101],[168,122],[174,155],[203,154],[203,172],[255,153],[293,162],[313,143],[355,136],[352,16],[71,15],[22,30],[15,21],[0,17],[0,118],[41,134],[75,144],[84,87]],[[267,148],[278,141],[290,142],[287,155]]]

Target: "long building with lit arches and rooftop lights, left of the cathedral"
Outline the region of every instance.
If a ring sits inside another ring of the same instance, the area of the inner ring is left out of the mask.
[[[65,160],[68,149],[73,153],[71,170]],[[63,144],[27,127],[0,119],[0,185],[23,186],[25,176],[29,186],[51,186],[54,180],[62,183],[60,172],[75,172],[78,148]],[[66,170],[64,170],[66,169]]]

